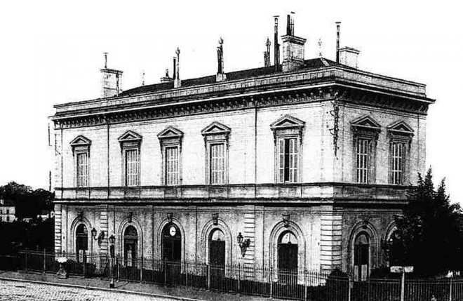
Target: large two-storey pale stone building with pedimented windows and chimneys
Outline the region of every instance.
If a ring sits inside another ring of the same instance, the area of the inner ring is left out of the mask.
[[[426,87],[304,58],[55,105],[55,251],[330,271],[365,279],[424,170]],[[96,235],[100,238],[96,243]]]

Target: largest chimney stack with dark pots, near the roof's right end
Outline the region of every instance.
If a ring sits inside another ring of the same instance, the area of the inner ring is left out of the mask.
[[[281,36],[283,40],[283,63],[282,71],[291,72],[304,65],[304,44],[307,39],[294,35],[294,21],[288,15],[288,25],[286,35]]]

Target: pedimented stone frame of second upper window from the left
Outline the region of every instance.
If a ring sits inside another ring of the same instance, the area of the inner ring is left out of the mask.
[[[121,156],[122,156],[122,186],[123,187],[137,187],[141,185],[142,179],[142,154],[140,152],[142,136],[133,132],[127,131],[121,137],[119,137],[119,144],[121,145]],[[127,176],[127,152],[133,151],[137,153],[137,171],[138,177],[135,185],[128,185],[128,176]]]

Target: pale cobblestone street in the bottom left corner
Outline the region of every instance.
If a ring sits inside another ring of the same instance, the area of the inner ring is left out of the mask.
[[[98,300],[112,300],[112,301],[162,301],[162,300],[178,300],[175,298],[158,298],[140,296],[128,293],[113,293],[101,290],[87,290],[85,288],[69,288],[61,286],[51,286],[39,283],[26,283],[17,281],[4,281],[0,280],[0,300],[8,301],[98,301]]]

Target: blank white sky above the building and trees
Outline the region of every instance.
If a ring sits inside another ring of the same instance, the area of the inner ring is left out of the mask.
[[[463,6],[462,6],[463,7]],[[224,39],[225,72],[263,66],[273,15],[295,12],[305,57],[335,59],[358,48],[359,68],[427,84],[427,163],[435,183],[463,203],[463,8],[458,1],[2,1],[0,4],[0,185],[48,188],[53,105],[100,96],[103,53],[123,70],[123,89],[158,83],[180,47],[180,76],[215,74]],[[286,26],[281,18],[280,32]],[[271,53],[273,58],[273,51]],[[272,59],[273,60],[273,59]],[[171,71],[170,71],[171,72]],[[425,172],[426,170],[423,170]]]

